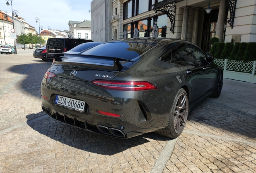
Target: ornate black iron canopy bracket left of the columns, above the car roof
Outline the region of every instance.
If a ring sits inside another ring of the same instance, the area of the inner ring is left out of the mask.
[[[163,0],[156,4],[153,4],[153,10],[155,13],[161,11],[165,13],[171,22],[170,31],[174,34],[174,23],[175,23],[175,13],[176,13],[176,3],[182,0]]]

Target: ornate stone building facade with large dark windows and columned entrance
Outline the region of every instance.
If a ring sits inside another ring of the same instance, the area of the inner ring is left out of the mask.
[[[188,40],[205,52],[212,37],[221,42],[256,42],[256,0],[112,0],[111,3],[109,33],[113,40],[124,38],[124,30],[128,38],[134,37],[135,28],[139,37],[152,37],[156,24],[157,37]]]

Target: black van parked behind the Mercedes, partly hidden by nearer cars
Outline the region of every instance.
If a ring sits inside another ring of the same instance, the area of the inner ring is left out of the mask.
[[[46,43],[46,59],[54,58],[49,53],[66,52],[85,42],[93,42],[93,40],[82,38],[48,38]]]

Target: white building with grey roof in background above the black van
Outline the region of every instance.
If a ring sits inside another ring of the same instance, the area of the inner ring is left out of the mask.
[[[69,37],[70,38],[89,38],[91,39],[91,21],[83,22],[69,20]]]

